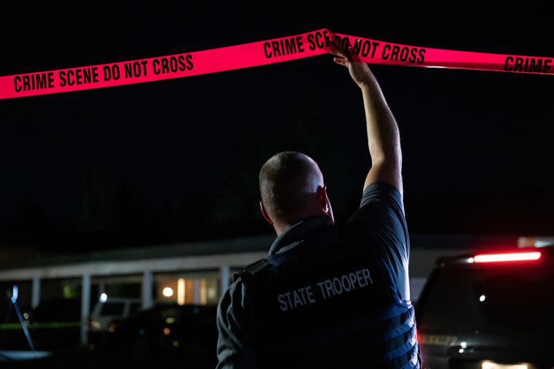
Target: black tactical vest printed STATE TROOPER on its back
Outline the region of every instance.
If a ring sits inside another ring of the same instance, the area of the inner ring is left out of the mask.
[[[335,227],[240,273],[260,368],[419,368],[415,316]]]

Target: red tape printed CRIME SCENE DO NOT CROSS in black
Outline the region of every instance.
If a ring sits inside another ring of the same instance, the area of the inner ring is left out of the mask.
[[[350,55],[355,60],[370,64],[554,74],[552,57],[408,46],[321,29],[301,35],[193,53],[5,75],[0,77],[0,99],[100,89],[287,62],[326,54],[331,50],[331,41],[344,50],[350,50]]]

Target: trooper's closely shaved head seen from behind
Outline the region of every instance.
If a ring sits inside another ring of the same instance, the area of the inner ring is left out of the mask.
[[[319,166],[300,152],[280,152],[266,161],[260,170],[260,194],[267,215],[277,224],[323,215],[328,204]]]

